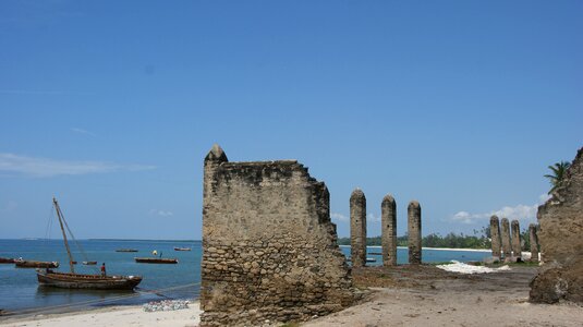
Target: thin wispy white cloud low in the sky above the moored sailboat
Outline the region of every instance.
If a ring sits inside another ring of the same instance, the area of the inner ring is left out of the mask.
[[[0,171],[37,178],[114,171],[139,171],[155,168],[154,166],[118,165],[102,161],[65,161],[0,153]]]

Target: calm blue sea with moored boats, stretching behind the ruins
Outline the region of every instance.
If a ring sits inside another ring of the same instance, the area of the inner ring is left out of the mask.
[[[0,308],[13,313],[31,313],[37,308],[56,311],[78,310],[86,306],[130,305],[165,299],[196,299],[201,281],[201,242],[179,241],[78,241],[88,261],[97,261],[97,266],[76,265],[77,272],[98,274],[101,263],[106,263],[109,275],[139,275],[144,279],[135,291],[89,291],[62,290],[38,287],[35,269],[15,268],[12,264],[0,264]],[[71,244],[75,249],[74,244]],[[192,247],[179,252],[173,247]],[[137,253],[120,253],[117,249],[135,249]],[[350,255],[350,246],[341,246]],[[178,265],[137,264],[135,256],[150,256],[151,251],[162,253],[162,257],[175,257]],[[381,264],[379,247],[368,247],[368,257]],[[85,261],[78,251],[73,251],[75,259]],[[423,250],[426,263],[482,261],[489,252]],[[23,257],[36,261],[57,261],[59,270],[69,269],[66,253],[61,240],[0,240],[0,257]],[[398,250],[398,262],[408,261],[406,249]],[[74,307],[70,305],[75,305]]]

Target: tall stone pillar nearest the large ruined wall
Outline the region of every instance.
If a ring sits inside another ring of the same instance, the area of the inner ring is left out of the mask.
[[[350,195],[350,254],[353,267],[366,265],[366,197],[361,189]]]

